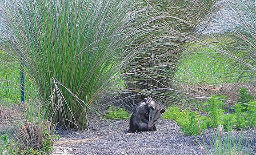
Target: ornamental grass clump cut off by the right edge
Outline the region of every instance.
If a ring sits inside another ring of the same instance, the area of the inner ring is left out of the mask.
[[[225,59],[232,63],[236,73],[229,73],[236,78],[236,83],[255,84],[256,79],[256,8],[253,0],[228,0],[222,5],[230,12],[224,31],[212,34],[215,48]]]

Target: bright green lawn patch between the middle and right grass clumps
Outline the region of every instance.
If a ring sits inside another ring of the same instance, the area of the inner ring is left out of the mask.
[[[250,74],[238,68],[237,62],[227,59],[213,48],[200,48],[191,52],[178,66],[175,79],[188,84],[233,83],[237,78]]]

